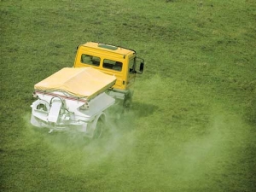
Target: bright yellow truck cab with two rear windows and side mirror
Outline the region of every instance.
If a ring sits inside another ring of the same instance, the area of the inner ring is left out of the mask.
[[[137,62],[140,62],[140,66]],[[137,57],[135,50],[96,42],[79,45],[73,65],[73,67],[93,67],[102,73],[115,76],[117,80],[113,90],[118,92],[130,90],[136,74],[143,73],[143,66],[144,61]]]

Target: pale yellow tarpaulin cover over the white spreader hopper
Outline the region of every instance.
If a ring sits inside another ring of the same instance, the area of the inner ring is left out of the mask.
[[[93,67],[65,67],[34,85],[35,90],[61,91],[91,99],[115,84],[116,78]]]

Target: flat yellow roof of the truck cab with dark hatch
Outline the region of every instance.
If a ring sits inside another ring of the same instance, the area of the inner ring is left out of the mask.
[[[133,55],[136,54],[135,50],[127,49],[119,46],[114,46],[111,44],[102,44],[102,43],[96,43],[96,42],[87,42],[85,44],[82,44],[84,47],[94,48],[94,49],[101,49],[104,51],[109,51],[112,53],[120,54],[120,55]]]

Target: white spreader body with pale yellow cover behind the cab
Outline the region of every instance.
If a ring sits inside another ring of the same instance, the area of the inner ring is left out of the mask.
[[[63,130],[76,127],[90,136],[97,120],[115,100],[104,91],[116,78],[92,67],[63,68],[35,84],[32,125]]]

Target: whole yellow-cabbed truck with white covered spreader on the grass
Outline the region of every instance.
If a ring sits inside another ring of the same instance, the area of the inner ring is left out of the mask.
[[[101,137],[108,111],[131,104],[132,84],[143,73],[136,51],[110,44],[79,45],[73,67],[34,85],[31,123],[51,131],[76,130]]]

